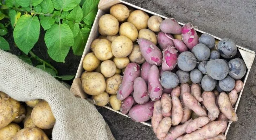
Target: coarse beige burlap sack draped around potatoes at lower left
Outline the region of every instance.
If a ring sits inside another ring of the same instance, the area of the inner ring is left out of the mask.
[[[56,124],[53,140],[115,140],[95,106],[76,98],[50,74],[0,50],[0,91],[19,101],[46,100]]]

